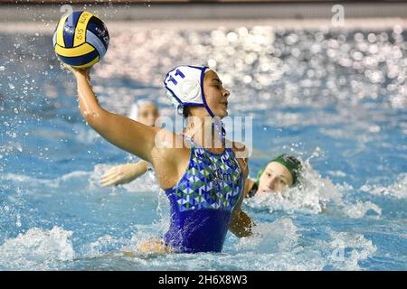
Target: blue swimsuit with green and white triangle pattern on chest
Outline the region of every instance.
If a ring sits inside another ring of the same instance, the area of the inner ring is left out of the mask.
[[[171,224],[166,246],[181,253],[221,252],[231,213],[241,197],[243,176],[232,148],[213,154],[190,140],[184,176],[166,190]]]

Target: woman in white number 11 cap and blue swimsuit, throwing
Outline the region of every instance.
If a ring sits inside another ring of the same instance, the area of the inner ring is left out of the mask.
[[[221,252],[228,229],[239,237],[251,234],[251,219],[241,211],[248,176],[241,151],[246,150],[223,139],[220,119],[228,115],[230,92],[215,71],[179,66],[167,73],[167,95],[188,116],[183,134],[176,135],[100,107],[90,86],[90,70],[68,68],[76,77],[80,113],[88,124],[111,144],[152,163],[166,191],[170,228],[163,240],[141,249]]]

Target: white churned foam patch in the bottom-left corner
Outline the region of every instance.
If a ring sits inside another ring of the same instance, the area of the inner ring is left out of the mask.
[[[71,231],[57,226],[51,230],[30,228],[0,246],[0,266],[11,270],[46,270],[59,261],[71,261],[75,255],[71,237]]]

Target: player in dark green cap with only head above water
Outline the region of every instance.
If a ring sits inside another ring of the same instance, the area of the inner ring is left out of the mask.
[[[255,194],[284,191],[293,187],[298,184],[301,170],[302,165],[297,158],[281,154],[260,169],[256,180],[249,179],[246,182],[245,196],[250,198]]]

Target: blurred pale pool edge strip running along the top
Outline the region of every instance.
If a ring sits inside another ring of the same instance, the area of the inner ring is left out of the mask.
[[[343,3],[345,21],[334,26],[334,3],[194,3],[132,5],[72,5],[73,10],[99,14],[109,30],[137,29],[213,29],[270,25],[299,29],[385,29],[407,27],[407,3]],[[64,14],[62,5],[0,5],[0,32],[51,33]]]

